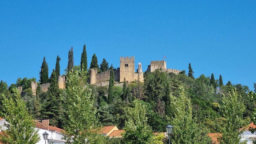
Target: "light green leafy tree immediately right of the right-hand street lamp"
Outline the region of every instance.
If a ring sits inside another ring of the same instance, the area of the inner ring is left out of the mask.
[[[174,118],[171,120],[174,127],[171,138],[172,144],[210,143],[210,138],[207,136],[209,132],[201,124],[196,124],[192,118],[191,101],[185,96],[184,88],[180,86],[179,90],[179,97],[170,95],[174,112]]]

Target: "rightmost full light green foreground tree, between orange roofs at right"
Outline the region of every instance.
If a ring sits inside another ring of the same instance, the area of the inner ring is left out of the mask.
[[[224,118],[221,119],[219,126],[220,133],[222,133],[219,141],[223,144],[242,143],[240,142],[241,134],[249,121],[243,118],[245,106],[241,95],[238,95],[236,90],[231,90],[228,95],[223,94],[222,98],[223,105],[220,107],[220,111]]]

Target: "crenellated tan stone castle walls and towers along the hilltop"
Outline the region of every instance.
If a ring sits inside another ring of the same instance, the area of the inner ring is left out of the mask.
[[[166,68],[166,61],[164,60],[158,60],[158,61],[151,61],[150,65],[148,65],[147,73],[150,74],[151,72],[154,72],[156,69],[162,69],[163,71],[166,71],[168,73],[172,72],[175,74],[180,73],[180,70],[176,69],[168,69]],[[144,81],[144,75],[142,71],[141,63],[138,63],[138,69],[135,72],[135,61],[134,57],[120,57],[120,67],[114,68],[114,79],[115,82],[124,82],[124,78],[128,82],[132,82],[135,80],[139,80],[140,82]],[[97,73],[97,69],[90,69],[90,84],[99,84],[103,82],[109,81],[110,77],[110,70]],[[58,77],[58,85],[60,89],[65,89],[65,76],[59,76]],[[41,84],[40,87],[43,92],[47,92],[48,88],[51,84]],[[37,82],[31,82],[31,89],[34,95],[36,95],[36,88],[37,88]],[[21,87],[18,87],[19,90],[22,90]]]

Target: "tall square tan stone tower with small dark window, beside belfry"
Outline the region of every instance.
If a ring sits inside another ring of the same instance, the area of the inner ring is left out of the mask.
[[[134,57],[120,57],[120,82],[135,80]]]

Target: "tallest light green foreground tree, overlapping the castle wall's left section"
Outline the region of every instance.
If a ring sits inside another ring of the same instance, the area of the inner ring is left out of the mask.
[[[97,134],[98,120],[93,107],[94,96],[88,87],[86,71],[69,73],[66,87],[67,143],[104,143],[105,137]]]

